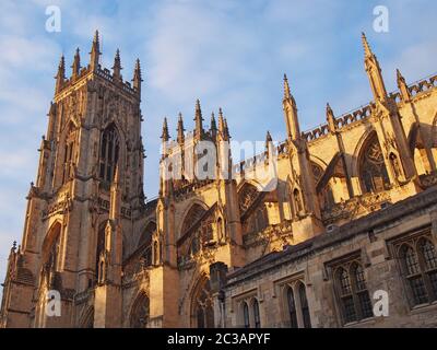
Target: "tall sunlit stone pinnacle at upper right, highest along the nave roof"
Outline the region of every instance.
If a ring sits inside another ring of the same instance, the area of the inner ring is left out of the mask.
[[[364,46],[364,67],[370,82],[374,98],[376,102],[387,104],[388,95],[378,59],[371,51],[370,45],[368,44],[366,35],[364,33],[362,34],[362,39]]]

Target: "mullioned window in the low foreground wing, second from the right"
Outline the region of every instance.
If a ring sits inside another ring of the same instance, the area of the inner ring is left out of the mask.
[[[356,260],[343,264],[335,273],[340,308],[345,324],[373,316],[363,267]]]

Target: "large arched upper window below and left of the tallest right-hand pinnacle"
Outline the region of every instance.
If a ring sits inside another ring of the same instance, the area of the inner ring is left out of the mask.
[[[364,148],[359,168],[364,192],[378,192],[390,188],[383,154],[376,133]]]

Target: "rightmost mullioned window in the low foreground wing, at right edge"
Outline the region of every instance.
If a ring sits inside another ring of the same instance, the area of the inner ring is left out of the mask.
[[[437,300],[437,253],[433,242],[420,237],[399,247],[402,275],[413,306]]]

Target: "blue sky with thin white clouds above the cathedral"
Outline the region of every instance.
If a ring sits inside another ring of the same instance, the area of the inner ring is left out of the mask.
[[[61,32],[45,30],[47,5],[61,10]],[[373,30],[375,5],[389,9],[389,33]],[[21,242],[25,196],[35,179],[59,57],[70,67],[75,48],[87,63],[93,33],[102,35],[103,63],[117,48],[122,74],[143,68],[142,127],[145,194],[157,192],[161,126],[175,136],[180,110],[192,128],[196,98],[209,124],[223,107],[234,140],[285,138],[282,77],[286,72],[302,129],[366,104],[364,31],[388,89],[395,68],[408,82],[437,71],[437,2],[432,0],[160,0],[0,2],[0,280],[12,241]],[[70,70],[68,71],[70,73]]]

